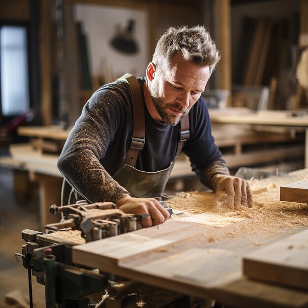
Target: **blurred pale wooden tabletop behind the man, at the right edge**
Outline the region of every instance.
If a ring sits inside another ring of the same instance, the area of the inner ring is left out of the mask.
[[[308,115],[299,117],[292,117],[291,115],[290,111],[281,110],[266,110],[253,114],[251,112],[247,113],[247,111],[243,112],[243,109],[237,112],[236,108],[210,110],[212,123],[283,126],[305,129],[305,167],[308,167]]]

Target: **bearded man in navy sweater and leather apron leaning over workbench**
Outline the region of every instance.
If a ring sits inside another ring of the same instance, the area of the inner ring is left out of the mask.
[[[249,185],[230,176],[215,145],[201,97],[219,58],[204,27],[168,29],[146,77],[138,78],[139,105],[132,99],[138,93],[118,80],[94,92],[84,106],[58,162],[67,182],[90,202],[112,201],[125,213],[149,214],[144,227],[157,225],[169,213],[145,196],[163,192],[183,147],[200,181],[227,207],[251,206]],[[135,138],[138,129],[145,136]]]

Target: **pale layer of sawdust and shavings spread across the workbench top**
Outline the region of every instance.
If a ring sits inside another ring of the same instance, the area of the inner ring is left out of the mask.
[[[252,191],[257,193],[253,194],[253,206],[240,210],[230,211],[219,207],[213,192],[180,192],[166,203],[174,210],[185,212],[185,216],[173,219],[197,222],[214,228],[229,226],[223,236],[222,233],[217,233],[217,229],[213,233],[215,236],[207,233],[209,243],[239,234],[245,236],[267,233],[274,237],[308,227],[307,204],[279,201],[280,185],[302,179],[303,176],[299,175],[248,181]],[[261,244],[256,243],[258,245]]]

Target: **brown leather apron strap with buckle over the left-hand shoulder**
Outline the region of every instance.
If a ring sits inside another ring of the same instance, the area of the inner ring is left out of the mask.
[[[118,80],[124,80],[128,83],[132,99],[133,133],[124,164],[134,167],[139,151],[144,147],[146,138],[143,97],[140,84],[135,76],[125,74]]]

